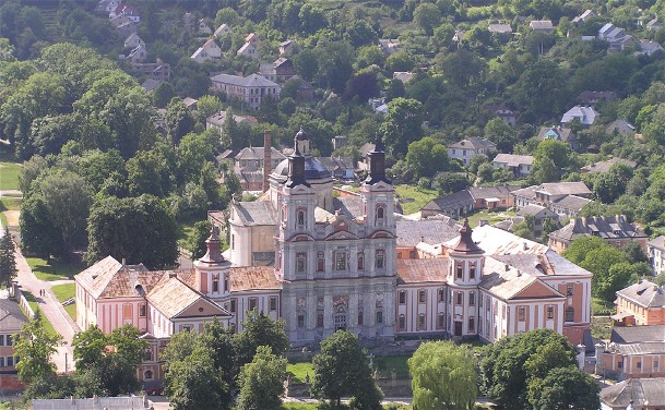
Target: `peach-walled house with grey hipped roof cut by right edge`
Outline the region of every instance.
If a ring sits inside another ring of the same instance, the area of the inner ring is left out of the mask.
[[[611,318],[617,325],[665,325],[665,290],[652,281],[642,279],[619,290],[615,304],[617,313]]]

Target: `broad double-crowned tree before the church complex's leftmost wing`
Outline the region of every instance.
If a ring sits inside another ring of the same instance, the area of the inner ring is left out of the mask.
[[[136,366],[147,348],[147,341],[140,339],[140,330],[129,324],[110,335],[97,326],[74,335],[76,372],[93,374],[99,388],[110,396],[136,391],[140,387]]]

